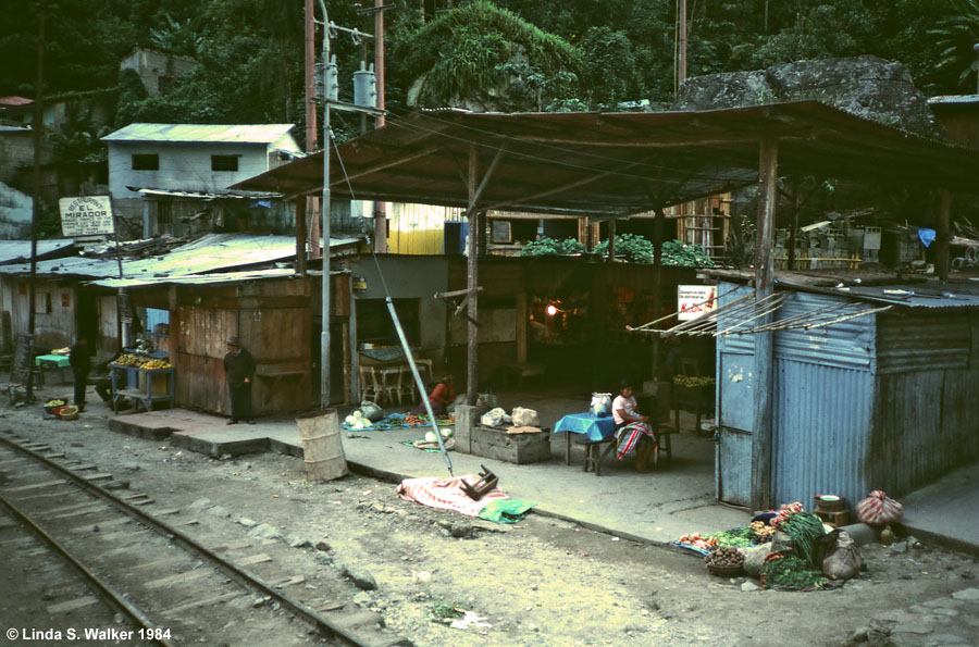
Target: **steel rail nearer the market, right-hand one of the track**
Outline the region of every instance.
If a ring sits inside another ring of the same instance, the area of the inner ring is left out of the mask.
[[[166,522],[160,521],[159,519],[152,517],[151,514],[144,512],[142,510],[136,508],[135,506],[131,506],[129,503],[123,501],[122,499],[120,499],[119,497],[116,497],[111,492],[107,490],[106,488],[84,478],[83,476],[78,476],[71,470],[55,463],[54,461],[48,459],[47,457],[41,456],[30,449],[27,449],[26,447],[20,446],[17,443],[12,440],[10,438],[10,436],[14,436],[14,434],[10,430],[4,430],[2,433],[0,433],[0,443],[2,443],[3,445],[5,445],[8,447],[13,448],[15,451],[18,451],[29,458],[37,460],[40,463],[44,463],[46,466],[64,475],[66,478],[72,481],[75,485],[79,486],[82,489],[85,489],[86,492],[97,495],[98,497],[102,498],[103,500],[108,501],[109,503],[111,503],[112,506],[117,508],[123,513],[128,514],[129,517],[152,527],[154,531],[164,535],[171,542],[174,542],[175,544],[179,545],[185,550],[196,552],[197,555],[199,555],[202,558],[210,561],[212,564],[215,564],[216,567],[219,567],[222,571],[225,572],[226,575],[228,575],[232,580],[234,580],[241,586],[244,586],[246,588],[256,589],[256,590],[261,592],[262,594],[271,597],[272,599],[277,601],[282,607],[287,608],[289,611],[292,611],[297,618],[301,619],[303,622],[315,627],[317,631],[319,631],[321,633],[325,633],[329,636],[335,636],[337,638],[340,638],[340,639],[345,640],[346,643],[349,643],[350,645],[355,645],[356,647],[367,647],[365,643],[360,640],[357,636],[355,636],[354,634],[351,634],[344,627],[337,626],[336,624],[330,622],[325,618],[318,615],[311,609],[306,608],[300,602],[297,602],[296,600],[293,600],[288,596],[285,596],[285,595],[278,593],[277,590],[272,588],[272,586],[265,584],[264,582],[262,582],[261,580],[251,575],[244,569],[238,568],[237,565],[233,564],[232,562],[215,555],[211,550],[208,550],[207,548],[205,548],[203,546],[201,546],[200,544],[198,544],[197,542],[195,542],[194,539],[188,537],[186,534],[184,534],[179,530],[173,527],[172,525],[168,524]]]

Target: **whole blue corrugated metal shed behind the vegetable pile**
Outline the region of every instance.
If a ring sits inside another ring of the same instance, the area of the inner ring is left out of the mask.
[[[894,307],[774,333],[772,497],[900,496],[979,457],[979,289],[905,284],[791,293],[777,320],[854,298]],[[733,290],[733,291],[731,291]],[[751,288],[721,283],[726,301]],[[730,322],[721,315],[718,329]],[[718,497],[747,505],[754,338],[718,339]],[[972,368],[970,368],[972,366]]]

